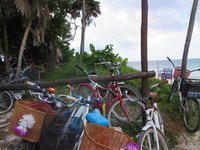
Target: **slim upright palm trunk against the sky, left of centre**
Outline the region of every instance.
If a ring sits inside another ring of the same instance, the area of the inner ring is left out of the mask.
[[[85,47],[85,28],[86,28],[86,8],[85,8],[85,0],[83,0],[83,10],[82,10],[82,19],[81,19],[81,24],[82,24],[82,31],[81,31],[81,45],[80,45],[80,55],[81,58],[84,53],[84,47]]]

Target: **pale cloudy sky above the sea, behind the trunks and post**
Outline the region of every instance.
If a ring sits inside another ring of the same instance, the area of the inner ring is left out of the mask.
[[[148,0],[148,60],[181,59],[193,0]],[[85,51],[113,45],[113,52],[129,61],[141,61],[141,0],[100,0],[101,15],[87,27]],[[71,48],[79,52],[81,29]],[[188,58],[200,58],[200,3]]]

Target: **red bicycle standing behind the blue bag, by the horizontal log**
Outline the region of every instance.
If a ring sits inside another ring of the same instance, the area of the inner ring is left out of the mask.
[[[115,80],[109,84],[100,85],[92,80],[94,74],[88,74],[80,65],[76,67],[85,72],[90,81],[90,83],[80,85],[78,95],[95,97],[94,107],[99,108],[110,120],[110,126],[118,126],[123,122],[133,123],[141,117],[144,104],[140,101],[140,93],[134,87]],[[110,69],[113,77],[113,72],[117,69],[116,66]]]

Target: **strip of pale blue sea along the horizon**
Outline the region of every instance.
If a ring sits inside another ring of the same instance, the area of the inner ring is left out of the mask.
[[[171,59],[171,60],[175,66],[181,66],[181,64],[182,64],[181,59]],[[141,71],[141,62],[140,61],[128,62],[128,65],[134,69]],[[174,67],[167,59],[166,60],[148,61],[148,71],[152,71],[152,70],[155,71],[157,78],[159,78],[160,73],[164,69],[174,70]],[[189,70],[200,69],[200,58],[188,59],[187,69],[189,69]],[[190,74],[189,78],[200,79],[200,71],[192,72]]]

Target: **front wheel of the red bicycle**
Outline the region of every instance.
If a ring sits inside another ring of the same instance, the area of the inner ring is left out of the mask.
[[[114,102],[109,108],[107,118],[110,121],[110,126],[119,126],[120,123],[134,123],[142,116],[144,104],[141,101],[131,101],[123,98],[124,109],[128,113],[128,118],[125,116],[120,101]]]

